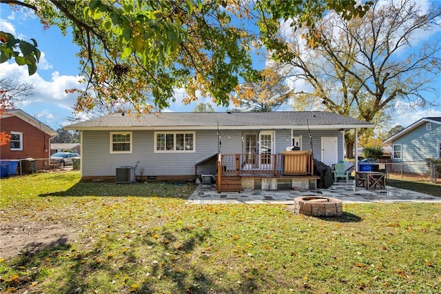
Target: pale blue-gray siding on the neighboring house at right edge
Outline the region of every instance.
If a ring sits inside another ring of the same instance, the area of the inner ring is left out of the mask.
[[[402,146],[402,159],[393,159],[393,162],[404,164],[404,171],[427,173],[425,159],[438,158],[440,141],[441,125],[432,123],[432,130],[426,130],[426,124],[421,124],[392,142],[392,146],[397,144]]]

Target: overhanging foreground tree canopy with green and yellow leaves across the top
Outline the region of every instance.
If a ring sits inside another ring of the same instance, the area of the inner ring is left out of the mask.
[[[329,9],[353,17],[367,8],[354,0],[0,3],[32,10],[44,26],[58,26],[64,33],[72,28],[87,85],[85,90],[70,89],[79,92],[76,111],[99,104],[131,104],[131,109],[139,112],[169,106],[177,88],[185,89],[185,102],[196,100],[198,92],[226,106],[240,79],[258,78],[250,52],[261,45],[277,49],[274,32],[280,19],[296,17],[294,27],[313,27]],[[258,33],[248,28],[254,23]],[[0,62],[14,59],[32,67],[39,59],[37,41],[21,41],[0,32]]]

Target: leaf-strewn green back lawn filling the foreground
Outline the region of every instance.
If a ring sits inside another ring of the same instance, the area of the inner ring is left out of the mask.
[[[187,204],[191,184],[79,178],[0,181],[1,292],[441,291],[441,204],[346,204],[326,219]]]

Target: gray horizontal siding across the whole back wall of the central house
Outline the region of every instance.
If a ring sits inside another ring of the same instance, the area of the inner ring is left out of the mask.
[[[274,132],[274,153],[280,153],[291,145],[290,131],[276,130]],[[81,173],[83,177],[114,176],[116,168],[135,166],[136,161],[140,161],[136,168],[136,175],[141,175],[141,170],[143,170],[144,177],[215,174],[216,161],[207,161],[198,166],[197,170],[195,164],[215,155],[218,151],[222,154],[238,154],[243,150],[242,130],[219,130],[219,135],[216,134],[216,130],[196,130],[194,153],[155,153],[153,130],[127,130],[126,132],[132,133],[132,153],[110,153],[110,130],[82,131]],[[302,135],[302,150],[310,150],[307,130],[298,131],[297,134]],[[314,158],[321,159],[322,136],[338,137],[338,160],[342,160],[342,133],[338,130],[311,131]],[[218,148],[218,141],[220,141],[220,148]]]

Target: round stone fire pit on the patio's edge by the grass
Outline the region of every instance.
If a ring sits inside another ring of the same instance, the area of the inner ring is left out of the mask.
[[[339,217],[343,214],[340,199],[321,196],[302,196],[294,198],[294,212],[313,217]]]

